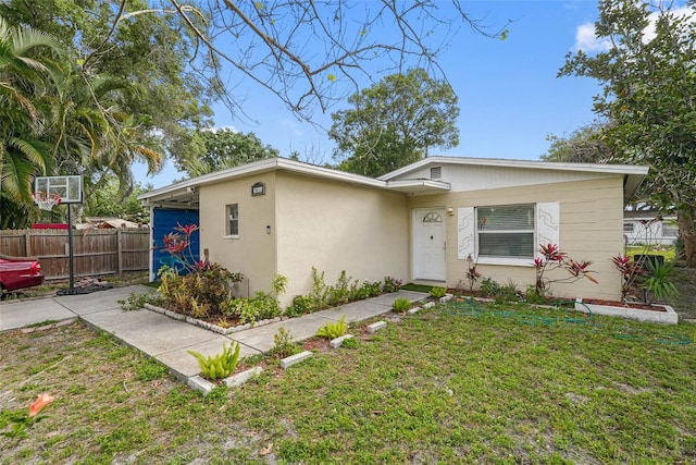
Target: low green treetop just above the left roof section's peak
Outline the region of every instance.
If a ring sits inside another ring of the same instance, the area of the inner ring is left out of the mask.
[[[197,131],[194,144],[202,147],[203,155],[199,156],[196,150],[177,162],[179,170],[191,178],[279,155],[277,149],[263,145],[253,133],[231,130]]]

